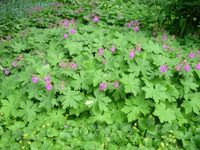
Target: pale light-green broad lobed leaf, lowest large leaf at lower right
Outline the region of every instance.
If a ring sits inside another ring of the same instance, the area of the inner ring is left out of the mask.
[[[153,113],[155,116],[158,116],[160,122],[169,122],[171,123],[176,119],[175,111],[171,108],[166,108],[165,103],[159,103],[155,106],[155,111]]]

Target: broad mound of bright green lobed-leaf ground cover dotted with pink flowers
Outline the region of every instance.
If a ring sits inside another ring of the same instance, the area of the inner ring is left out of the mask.
[[[198,43],[86,6],[54,3],[1,41],[0,148],[199,149]]]

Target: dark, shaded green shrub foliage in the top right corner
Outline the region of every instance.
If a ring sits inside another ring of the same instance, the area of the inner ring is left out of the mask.
[[[157,4],[161,6],[157,8],[160,25],[166,25],[169,31],[181,37],[187,34],[200,37],[199,0],[157,0]]]

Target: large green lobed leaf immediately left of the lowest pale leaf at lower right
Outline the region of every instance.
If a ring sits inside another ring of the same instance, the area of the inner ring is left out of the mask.
[[[150,112],[149,101],[142,96],[126,99],[122,112],[127,114],[128,122],[137,120],[142,114],[147,115]]]

